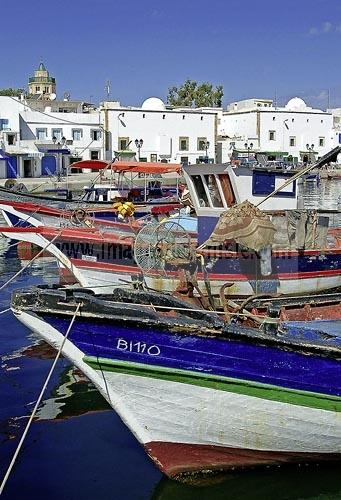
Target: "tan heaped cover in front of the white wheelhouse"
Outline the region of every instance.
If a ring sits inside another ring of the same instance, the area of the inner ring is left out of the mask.
[[[249,201],[243,201],[223,212],[205,246],[219,246],[234,240],[246,248],[259,251],[271,245],[276,229],[268,215]]]

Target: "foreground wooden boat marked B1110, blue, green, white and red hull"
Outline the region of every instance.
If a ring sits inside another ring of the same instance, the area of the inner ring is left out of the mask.
[[[329,301],[340,311],[340,296]],[[283,321],[270,305],[262,317],[243,307],[224,320],[133,289],[40,287],[14,292],[11,307],[173,479],[341,459],[340,317]]]

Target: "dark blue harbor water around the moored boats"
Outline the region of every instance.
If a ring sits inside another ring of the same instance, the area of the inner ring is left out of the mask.
[[[341,180],[300,186],[301,206],[341,209]],[[341,219],[334,217],[334,223]],[[0,286],[24,265],[0,239]],[[34,407],[55,351],[11,314],[11,292],[57,283],[50,258],[37,259],[0,292],[0,481]],[[165,478],[82,373],[61,358],[2,498],[9,499],[309,499],[341,500],[339,465],[231,472],[217,484]]]

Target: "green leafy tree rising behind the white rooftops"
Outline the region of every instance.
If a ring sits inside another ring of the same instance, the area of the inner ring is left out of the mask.
[[[223,95],[222,85],[214,88],[211,83],[198,84],[188,79],[180,87],[173,86],[168,89],[167,102],[172,106],[220,107]]]

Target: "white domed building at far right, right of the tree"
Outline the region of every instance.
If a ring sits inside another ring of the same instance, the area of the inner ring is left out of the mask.
[[[223,112],[218,144],[222,161],[235,150],[241,156],[258,153],[265,160],[289,158],[297,163],[327,153],[335,144],[334,135],[332,114],[310,108],[298,97],[285,107],[275,107],[270,99],[247,99]]]

